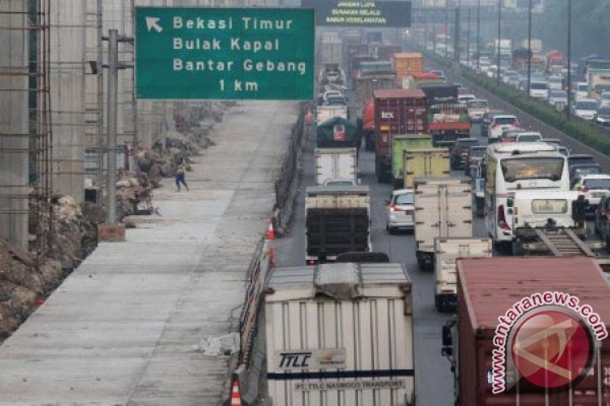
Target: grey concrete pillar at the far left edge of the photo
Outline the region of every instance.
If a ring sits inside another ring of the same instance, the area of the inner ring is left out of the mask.
[[[0,237],[27,247],[27,2],[0,0]]]

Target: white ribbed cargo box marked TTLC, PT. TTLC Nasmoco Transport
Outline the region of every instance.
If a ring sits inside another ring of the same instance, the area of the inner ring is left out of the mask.
[[[414,406],[411,280],[402,264],[278,268],[265,295],[273,406]]]

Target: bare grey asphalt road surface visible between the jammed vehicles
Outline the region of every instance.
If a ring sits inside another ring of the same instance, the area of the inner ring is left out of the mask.
[[[479,135],[478,125],[472,131]],[[307,186],[314,186],[314,137],[310,137],[303,158],[303,179],[296,200],[295,218],[289,236],[276,240],[276,255],[280,267],[305,264],[305,195]],[[484,141],[484,140],[483,140]],[[412,233],[390,236],[386,231],[386,205],[392,186],[379,184],[375,176],[375,154],[360,150],[359,178],[371,191],[371,243],[374,251],[383,251],[392,262],[402,262],[412,281],[415,327],[415,390],[420,405],[453,405],[453,373],[447,359],[440,355],[441,328],[451,317],[434,307],[434,273],[420,271],[415,259],[415,239]],[[453,172],[461,176],[463,172]],[[475,236],[486,236],[483,219],[475,217]]]

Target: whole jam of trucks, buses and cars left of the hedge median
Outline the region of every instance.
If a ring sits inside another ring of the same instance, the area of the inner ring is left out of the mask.
[[[265,296],[267,353],[306,362],[268,363],[273,404],[608,404],[610,175],[369,34],[319,39],[306,252]]]

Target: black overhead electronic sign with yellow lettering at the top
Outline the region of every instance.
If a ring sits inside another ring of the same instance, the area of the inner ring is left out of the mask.
[[[411,1],[301,0],[318,26],[411,27]]]

